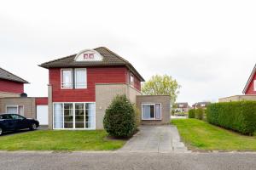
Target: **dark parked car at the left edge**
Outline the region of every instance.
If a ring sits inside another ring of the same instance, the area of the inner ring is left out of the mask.
[[[38,126],[39,122],[35,119],[26,118],[17,114],[0,114],[0,135],[3,132],[25,128],[35,130]]]

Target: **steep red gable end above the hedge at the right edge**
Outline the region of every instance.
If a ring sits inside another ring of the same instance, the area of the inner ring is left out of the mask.
[[[243,94],[256,94],[256,65],[254,65],[253,71],[247,81],[245,88],[242,91]]]

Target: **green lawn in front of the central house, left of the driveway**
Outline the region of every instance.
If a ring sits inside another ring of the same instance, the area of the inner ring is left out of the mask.
[[[38,130],[1,136],[0,150],[116,150],[125,144],[106,137],[103,130]]]

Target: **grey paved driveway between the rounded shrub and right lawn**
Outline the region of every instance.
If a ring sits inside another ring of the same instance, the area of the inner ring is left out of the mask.
[[[120,149],[121,152],[189,152],[177,132],[177,127],[165,126],[141,126],[135,134]]]

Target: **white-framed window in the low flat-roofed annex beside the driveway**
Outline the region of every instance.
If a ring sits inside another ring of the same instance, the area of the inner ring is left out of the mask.
[[[161,104],[143,104],[142,105],[143,120],[160,120]]]

